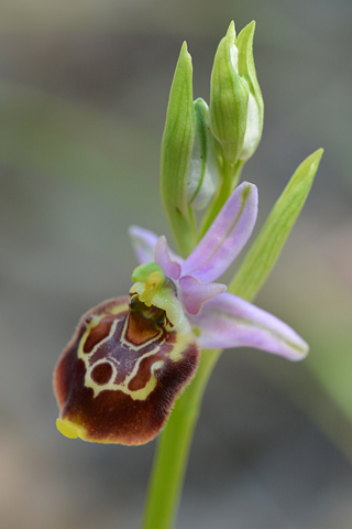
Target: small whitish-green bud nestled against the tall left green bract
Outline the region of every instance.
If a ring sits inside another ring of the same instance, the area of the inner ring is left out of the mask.
[[[204,209],[213,197],[220,182],[220,164],[209,129],[209,108],[201,98],[194,102],[196,134],[187,179],[188,204]]]

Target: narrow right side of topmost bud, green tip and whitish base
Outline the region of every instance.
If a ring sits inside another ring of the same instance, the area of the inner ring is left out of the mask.
[[[254,57],[253,57],[253,37],[255,22],[248,24],[239,36],[235,45],[238,47],[238,68],[242,79],[248,84],[250,90],[246,129],[240,160],[248,160],[254,153],[263,131],[264,102],[262,91],[256,78]]]

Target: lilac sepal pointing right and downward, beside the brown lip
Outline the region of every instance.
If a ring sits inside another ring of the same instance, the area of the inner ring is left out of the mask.
[[[190,320],[200,330],[200,346],[207,349],[249,346],[290,360],[308,353],[306,342],[286,323],[227,292],[206,303]]]

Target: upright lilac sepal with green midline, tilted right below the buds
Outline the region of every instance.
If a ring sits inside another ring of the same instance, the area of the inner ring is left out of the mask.
[[[183,266],[184,276],[200,281],[218,279],[240,253],[250,238],[257,214],[257,190],[243,182]]]

